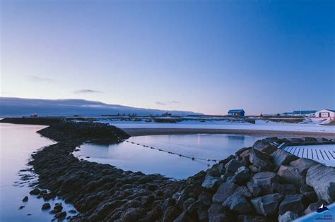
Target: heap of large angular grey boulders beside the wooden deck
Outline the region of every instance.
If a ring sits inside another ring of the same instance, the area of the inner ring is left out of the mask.
[[[259,140],[187,179],[161,221],[292,221],[333,203],[335,168],[278,149],[283,142]]]

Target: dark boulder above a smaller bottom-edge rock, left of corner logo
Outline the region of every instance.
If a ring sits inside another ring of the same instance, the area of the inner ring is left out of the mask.
[[[279,205],[278,213],[282,215],[286,211],[293,211],[295,214],[301,215],[305,209],[302,201],[302,195],[287,195]]]

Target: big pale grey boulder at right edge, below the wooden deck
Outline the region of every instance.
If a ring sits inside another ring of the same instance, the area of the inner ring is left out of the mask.
[[[319,199],[328,204],[335,202],[335,168],[331,166],[315,165],[308,169],[307,185],[313,187]]]

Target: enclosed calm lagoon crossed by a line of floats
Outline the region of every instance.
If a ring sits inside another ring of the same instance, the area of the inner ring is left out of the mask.
[[[152,135],[129,138],[131,142],[201,159],[225,159],[242,147],[252,146],[256,140],[258,138],[243,135],[205,134]],[[126,171],[160,173],[176,179],[187,178],[208,168],[207,164],[213,164],[213,162],[208,161],[192,161],[192,159],[167,154],[129,142],[110,145],[83,144],[80,151],[74,152],[74,155],[79,159],[111,164]],[[88,156],[89,158],[87,158]]]

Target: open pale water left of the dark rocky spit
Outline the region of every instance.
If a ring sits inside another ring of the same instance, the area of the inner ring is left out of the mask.
[[[31,180],[20,180],[26,169],[30,154],[40,147],[52,144],[51,140],[40,137],[36,133],[45,126],[40,125],[14,125],[0,123],[0,221],[51,221],[52,214],[42,211],[45,202],[29,195],[29,184],[37,179],[36,175]],[[28,175],[28,174],[27,174]],[[23,197],[28,196],[28,202],[23,203]],[[48,201],[52,207],[54,203],[61,202],[64,210],[73,209],[60,199]],[[25,206],[18,210],[19,206]],[[28,214],[31,214],[28,216]],[[68,214],[70,215],[70,214]]]

